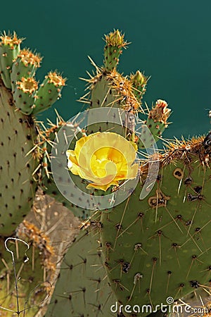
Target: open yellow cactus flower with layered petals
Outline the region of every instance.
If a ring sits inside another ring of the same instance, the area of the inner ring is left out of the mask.
[[[120,180],[136,178],[138,163],[136,149],[121,135],[113,132],[96,132],[82,137],[75,150],[68,150],[68,168],[72,174],[88,180],[87,188],[106,190],[119,186]]]

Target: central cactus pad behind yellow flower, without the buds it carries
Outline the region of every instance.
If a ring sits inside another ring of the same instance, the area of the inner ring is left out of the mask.
[[[87,133],[111,131],[119,133],[127,137],[127,139],[133,139],[135,113],[143,111],[143,109],[140,108],[139,101],[134,97],[132,83],[126,77],[117,73],[115,69],[110,73],[105,73],[98,67],[96,67],[96,76],[91,77],[87,82],[89,83],[90,97],[87,99],[87,95],[85,95],[80,101],[89,103],[90,109],[113,107],[120,108],[121,113],[120,125],[112,123],[113,114],[109,111],[106,116],[108,120],[106,123],[102,122],[102,119],[105,120],[105,118],[102,118],[101,111],[98,114],[94,113],[94,117],[93,113],[91,113],[89,115]],[[95,123],[92,124],[93,122]]]

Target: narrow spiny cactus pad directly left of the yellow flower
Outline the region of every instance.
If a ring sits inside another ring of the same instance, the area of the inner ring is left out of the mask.
[[[66,144],[68,142],[68,138],[71,137],[71,135],[75,135],[74,139],[72,140],[72,143],[70,144],[70,148],[74,149],[75,147],[75,142],[76,139],[82,137],[84,135],[84,132],[81,131],[77,123],[75,125],[72,125],[72,128],[68,128],[68,133],[65,132],[65,127],[67,123],[62,120],[62,118],[58,117],[58,124],[57,125],[51,125],[49,129],[46,129],[41,133],[41,152],[42,152],[42,160],[41,160],[41,170],[38,170],[38,177],[39,177],[39,185],[44,191],[44,194],[49,194],[49,196],[53,197],[57,201],[63,204],[63,206],[67,207],[74,213],[75,216],[79,217],[80,219],[87,219],[90,216],[90,212],[87,206],[87,209],[82,209],[79,206],[75,206],[74,204],[71,203],[71,199],[73,197],[72,192],[70,193],[70,200],[65,198],[65,195],[68,193],[68,188],[70,187],[70,180],[69,177],[67,177],[69,174],[60,173],[59,177],[58,175],[52,175],[52,170],[51,170],[51,151],[52,147],[54,147],[54,142],[61,142],[62,144]],[[63,130],[63,135],[58,139],[58,132],[59,130]],[[71,134],[72,133],[72,134]],[[63,147],[63,145],[60,145],[60,147]],[[66,167],[66,154],[65,155],[65,167]],[[56,159],[56,157],[55,157]],[[55,160],[56,161],[56,160]],[[59,161],[59,160],[58,160]],[[57,163],[57,161],[56,161]],[[60,164],[60,162],[58,162]],[[60,166],[58,166],[58,170],[60,170]],[[57,179],[59,182],[59,187],[58,189],[54,178]],[[87,183],[84,182],[82,179],[77,178],[77,176],[71,174],[71,178],[73,182],[75,182],[75,185],[79,187],[82,192],[87,192],[90,193],[88,189],[86,189]],[[78,202],[80,199],[83,197],[78,197]]]

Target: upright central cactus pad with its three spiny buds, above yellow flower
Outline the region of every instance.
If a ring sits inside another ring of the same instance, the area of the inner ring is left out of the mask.
[[[109,112],[107,123],[102,123],[100,112],[98,115],[90,113],[87,132],[111,130],[136,142],[139,148],[144,148],[146,145],[151,147],[153,142],[157,142],[162,137],[162,132],[167,128],[170,109],[167,108],[167,103],[160,99],[151,110],[148,107],[143,108],[142,98],[146,92],[149,77],[143,75],[140,70],[130,76],[118,73],[119,57],[122,54],[122,48],[126,49],[128,43],[124,41],[124,35],[119,30],[110,32],[109,35],[106,35],[105,40],[104,67],[96,66],[94,61],[91,60],[96,69],[96,75],[90,75],[90,78],[85,80],[89,85],[89,93],[85,94],[80,100],[88,104],[90,109],[101,107],[120,108],[124,111],[124,117],[122,118],[122,126],[117,126],[109,123],[112,116]],[[134,135],[135,117],[137,120],[138,113],[141,113],[143,125],[140,131],[136,131],[136,134],[146,135],[145,142],[148,142],[148,144],[143,144]],[[96,123],[97,120],[98,123]],[[95,124],[92,124],[93,122]]]

